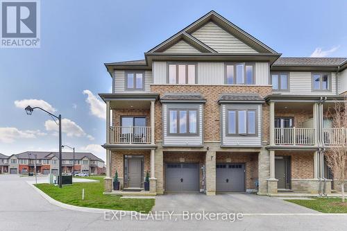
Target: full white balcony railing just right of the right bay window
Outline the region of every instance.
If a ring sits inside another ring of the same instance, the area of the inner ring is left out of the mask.
[[[315,143],[314,128],[275,128],[276,145],[307,145]]]

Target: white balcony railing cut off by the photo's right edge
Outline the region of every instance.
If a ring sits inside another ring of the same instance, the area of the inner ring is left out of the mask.
[[[347,128],[323,128],[323,143],[326,146],[347,144]]]

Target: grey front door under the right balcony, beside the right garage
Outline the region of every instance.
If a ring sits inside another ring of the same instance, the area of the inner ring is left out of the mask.
[[[275,178],[278,180],[278,189],[290,187],[290,159],[289,157],[275,157]]]

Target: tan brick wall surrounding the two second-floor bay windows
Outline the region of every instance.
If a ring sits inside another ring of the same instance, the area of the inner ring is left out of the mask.
[[[151,85],[151,92],[162,96],[169,92],[199,92],[207,99],[204,105],[204,139],[205,141],[220,140],[220,108],[217,103],[223,93],[257,93],[265,97],[271,94],[268,86],[221,86],[221,85]],[[269,140],[269,106],[263,105],[263,139]],[[155,141],[162,140],[162,105],[155,103]]]

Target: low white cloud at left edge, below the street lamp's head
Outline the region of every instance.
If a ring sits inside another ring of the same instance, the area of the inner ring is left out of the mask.
[[[46,133],[40,130],[18,130],[18,128],[0,128],[0,142],[12,143],[16,139],[33,139]]]

